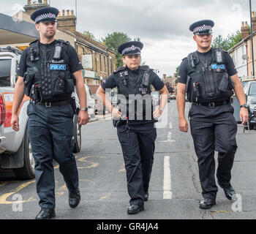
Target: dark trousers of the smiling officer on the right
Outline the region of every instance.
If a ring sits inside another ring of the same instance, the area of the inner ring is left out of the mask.
[[[194,140],[200,184],[204,198],[216,198],[214,150],[218,151],[217,180],[229,186],[236,154],[237,123],[231,105],[206,107],[192,105],[190,129]]]

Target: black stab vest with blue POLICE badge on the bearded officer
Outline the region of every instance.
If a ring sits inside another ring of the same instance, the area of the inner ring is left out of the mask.
[[[32,97],[33,85],[39,87],[42,102],[57,102],[70,99],[75,87],[75,77],[69,67],[67,48],[69,42],[55,40],[50,50],[42,50],[39,40],[31,42],[26,59],[27,72],[24,75],[26,94]],[[58,47],[61,53],[54,58]]]

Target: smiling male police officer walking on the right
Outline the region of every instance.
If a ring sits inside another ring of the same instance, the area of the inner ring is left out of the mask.
[[[214,149],[218,151],[217,180],[229,200],[236,197],[230,184],[231,169],[236,153],[237,124],[233,117],[230,97],[233,90],[241,105],[242,124],[248,119],[243,87],[229,54],[211,48],[212,20],[193,23],[197,51],[181,62],[178,72],[178,124],[182,132],[188,131],[184,116],[185,94],[192,102],[189,110],[190,128],[194,140],[203,200],[200,208],[208,209],[216,203]]]

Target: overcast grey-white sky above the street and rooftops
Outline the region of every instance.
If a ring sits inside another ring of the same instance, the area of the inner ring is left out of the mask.
[[[34,0],[35,1],[35,0]],[[32,0],[33,2],[33,0]],[[227,37],[249,23],[249,0],[77,0],[78,31],[98,39],[121,31],[144,44],[143,61],[159,75],[173,75],[181,59],[196,50],[189,25],[214,20],[214,37]],[[26,0],[0,0],[0,12],[12,15]],[[75,10],[75,0],[50,0],[61,10]],[[256,11],[256,0],[252,0]]]

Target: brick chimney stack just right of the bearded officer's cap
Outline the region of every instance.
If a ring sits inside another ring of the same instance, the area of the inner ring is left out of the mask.
[[[57,18],[58,20],[58,29],[68,30],[75,32],[76,31],[76,20],[77,18],[74,15],[74,10],[67,10],[67,15],[65,15],[65,10],[62,10],[62,15]]]

